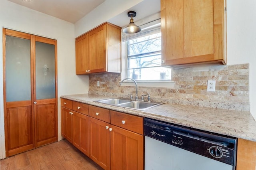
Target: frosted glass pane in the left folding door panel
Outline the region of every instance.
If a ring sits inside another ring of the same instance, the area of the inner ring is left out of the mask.
[[[6,35],[6,102],[31,100],[30,40]]]

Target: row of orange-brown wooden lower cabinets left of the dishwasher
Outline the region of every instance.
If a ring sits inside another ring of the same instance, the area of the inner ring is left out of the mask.
[[[144,169],[142,117],[90,105],[87,116],[77,108],[80,103],[62,100],[64,138],[105,170]]]

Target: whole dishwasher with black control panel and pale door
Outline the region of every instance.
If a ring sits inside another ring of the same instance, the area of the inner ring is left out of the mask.
[[[145,170],[235,170],[237,138],[144,119]]]

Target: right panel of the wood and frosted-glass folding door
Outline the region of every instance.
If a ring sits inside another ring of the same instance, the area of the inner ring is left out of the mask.
[[[58,140],[56,112],[56,40],[34,36],[36,147]]]

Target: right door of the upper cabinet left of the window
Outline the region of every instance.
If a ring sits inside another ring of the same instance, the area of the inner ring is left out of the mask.
[[[92,30],[89,40],[89,70],[90,73],[106,71],[106,25]]]

